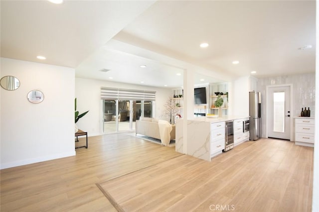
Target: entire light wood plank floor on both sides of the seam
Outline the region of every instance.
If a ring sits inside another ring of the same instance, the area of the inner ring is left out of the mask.
[[[127,211],[311,211],[313,148],[293,142],[248,141],[211,162],[124,134],[76,151],[1,170],[0,211],[116,211],[96,184]]]

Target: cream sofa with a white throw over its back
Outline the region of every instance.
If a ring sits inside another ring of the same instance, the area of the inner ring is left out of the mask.
[[[169,133],[170,140],[173,140],[175,139],[175,125],[170,126],[172,127]],[[135,129],[136,134],[142,134],[160,140],[164,139],[163,136],[160,136],[159,119],[157,118],[140,117],[140,120],[136,120],[135,122]]]

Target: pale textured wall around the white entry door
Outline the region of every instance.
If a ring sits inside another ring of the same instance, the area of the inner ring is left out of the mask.
[[[293,84],[294,110],[292,116],[300,115],[302,107],[310,107],[311,116],[315,117],[316,73],[259,78],[257,90],[261,92],[262,137],[266,136],[266,87],[270,85]]]

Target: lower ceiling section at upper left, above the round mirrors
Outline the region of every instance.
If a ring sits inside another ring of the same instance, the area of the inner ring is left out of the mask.
[[[153,3],[1,0],[1,57],[76,68]]]

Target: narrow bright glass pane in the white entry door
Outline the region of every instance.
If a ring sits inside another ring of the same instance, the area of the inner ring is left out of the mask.
[[[274,92],[274,132],[285,132],[285,92]]]

